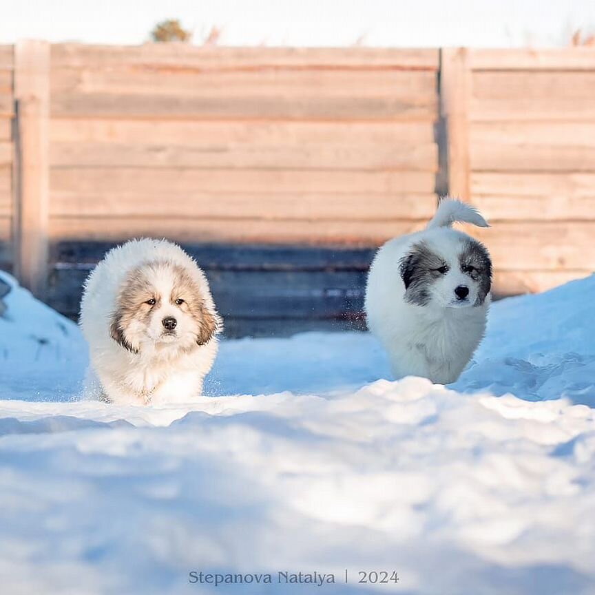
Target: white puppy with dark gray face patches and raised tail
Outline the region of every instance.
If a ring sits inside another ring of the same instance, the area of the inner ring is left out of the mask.
[[[486,330],[492,261],[486,247],[451,229],[489,227],[473,207],[444,198],[424,231],[386,242],[368,274],[366,315],[395,378],[455,382]]]

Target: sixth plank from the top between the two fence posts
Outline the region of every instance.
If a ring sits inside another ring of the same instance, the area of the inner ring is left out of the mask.
[[[163,194],[180,198],[187,192],[379,192],[429,194],[435,176],[426,171],[293,171],[242,169],[52,169],[52,191],[81,194]]]

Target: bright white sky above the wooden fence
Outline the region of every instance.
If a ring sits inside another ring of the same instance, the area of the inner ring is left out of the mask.
[[[567,45],[595,33],[595,0],[0,0],[0,43],[136,44],[180,19],[227,45]]]

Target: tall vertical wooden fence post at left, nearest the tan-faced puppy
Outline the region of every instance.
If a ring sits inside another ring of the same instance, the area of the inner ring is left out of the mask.
[[[43,298],[48,282],[50,44],[14,47],[14,271]]]

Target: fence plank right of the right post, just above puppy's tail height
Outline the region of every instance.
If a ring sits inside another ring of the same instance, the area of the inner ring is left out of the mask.
[[[574,198],[595,194],[595,174],[510,174],[473,172],[472,196],[542,196]]]

